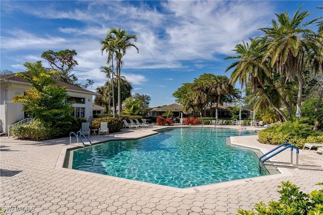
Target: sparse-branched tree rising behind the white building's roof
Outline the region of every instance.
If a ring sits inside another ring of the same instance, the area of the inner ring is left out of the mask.
[[[50,70],[59,71],[59,73],[52,76],[53,79],[70,85],[87,88],[94,83],[92,80],[87,79],[86,84],[82,85],[78,83],[78,78],[74,74],[71,74],[74,67],[78,65],[77,61],[74,59],[76,54],[75,50],[69,49],[58,52],[48,50],[44,51],[41,54],[41,57],[48,61]]]

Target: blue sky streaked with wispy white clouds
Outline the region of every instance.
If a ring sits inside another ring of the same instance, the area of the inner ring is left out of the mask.
[[[175,103],[172,94],[203,73],[226,75],[242,40],[261,35],[275,13],[302,11],[322,16],[321,1],[1,1],[1,69],[25,71],[26,61],[45,60],[46,50],[75,49],[73,73],[91,79],[94,91],[106,78],[99,40],[110,28],[137,35],[121,73],[133,93],[148,94],[150,107]],[[239,87],[239,86],[237,86]]]

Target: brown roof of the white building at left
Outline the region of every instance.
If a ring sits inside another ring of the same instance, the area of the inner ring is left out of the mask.
[[[27,71],[25,71],[24,73],[27,73]],[[26,83],[26,85],[29,83],[26,79],[16,76],[16,74],[9,74],[9,75],[4,75],[0,77],[0,81],[4,81],[4,80],[8,80],[9,82],[21,82],[21,83]],[[79,92],[83,92],[83,93],[87,93],[87,94],[92,94],[92,95],[97,95],[97,93],[94,93],[92,91],[74,86],[74,85],[70,85],[70,84],[66,84],[64,82],[61,81],[57,81],[55,80],[57,83],[57,86],[60,87],[66,87],[66,90],[68,91],[79,91]]]

